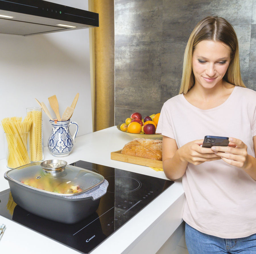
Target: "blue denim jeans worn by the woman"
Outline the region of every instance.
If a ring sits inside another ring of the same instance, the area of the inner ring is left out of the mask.
[[[186,223],[185,240],[189,254],[256,254],[256,234],[225,239],[199,232]]]

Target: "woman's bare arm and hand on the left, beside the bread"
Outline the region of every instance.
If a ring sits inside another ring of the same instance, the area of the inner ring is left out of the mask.
[[[163,169],[167,178],[176,180],[183,176],[187,164],[199,165],[205,161],[221,159],[210,148],[201,147],[203,140],[191,141],[178,149],[174,139],[163,136]]]

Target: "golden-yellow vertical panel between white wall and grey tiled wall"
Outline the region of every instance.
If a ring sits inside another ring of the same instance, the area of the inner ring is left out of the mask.
[[[89,28],[92,92],[92,129],[115,125],[114,1],[89,0],[89,11],[99,13],[99,27]]]

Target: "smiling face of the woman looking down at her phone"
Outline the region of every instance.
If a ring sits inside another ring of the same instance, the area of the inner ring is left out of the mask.
[[[213,88],[222,84],[230,63],[230,47],[220,41],[203,40],[197,43],[192,57],[195,86]]]

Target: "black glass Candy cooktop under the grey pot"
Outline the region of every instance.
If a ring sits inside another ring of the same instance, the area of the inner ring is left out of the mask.
[[[81,253],[90,253],[174,182],[86,161],[71,165],[97,172],[109,182],[96,212],[75,224],[48,220],[16,205],[10,189],[0,192],[0,214]]]

